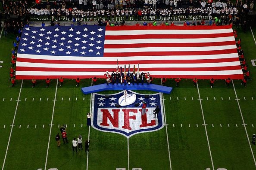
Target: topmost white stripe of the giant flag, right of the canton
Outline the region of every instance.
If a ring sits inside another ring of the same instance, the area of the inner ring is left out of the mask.
[[[231,33],[233,30],[216,29],[216,30],[106,30],[105,35],[165,35],[165,34],[212,34],[212,33]]]

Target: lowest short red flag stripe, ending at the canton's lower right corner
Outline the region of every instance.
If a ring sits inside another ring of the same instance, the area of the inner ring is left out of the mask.
[[[224,49],[214,51],[199,51],[199,52],[109,52],[104,53],[104,57],[128,57],[128,56],[164,56],[164,55],[217,55],[230,54],[237,52],[237,49]]]

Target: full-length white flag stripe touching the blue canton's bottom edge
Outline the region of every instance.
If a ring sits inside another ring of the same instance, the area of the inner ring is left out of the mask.
[[[76,56],[52,56],[52,55],[29,55],[17,54],[19,58],[44,59],[44,60],[69,60],[69,61],[117,61],[117,57],[76,57]],[[131,56],[118,57],[119,61],[149,61],[149,60],[203,60],[203,59],[221,59],[238,58],[237,53],[219,54],[219,55],[170,55],[170,56]]]

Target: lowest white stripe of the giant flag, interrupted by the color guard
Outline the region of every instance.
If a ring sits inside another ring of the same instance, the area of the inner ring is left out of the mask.
[[[16,71],[17,76],[102,76],[106,72],[64,72],[64,71]],[[152,75],[234,75],[242,74],[242,70],[222,70],[222,71],[151,71]]]

